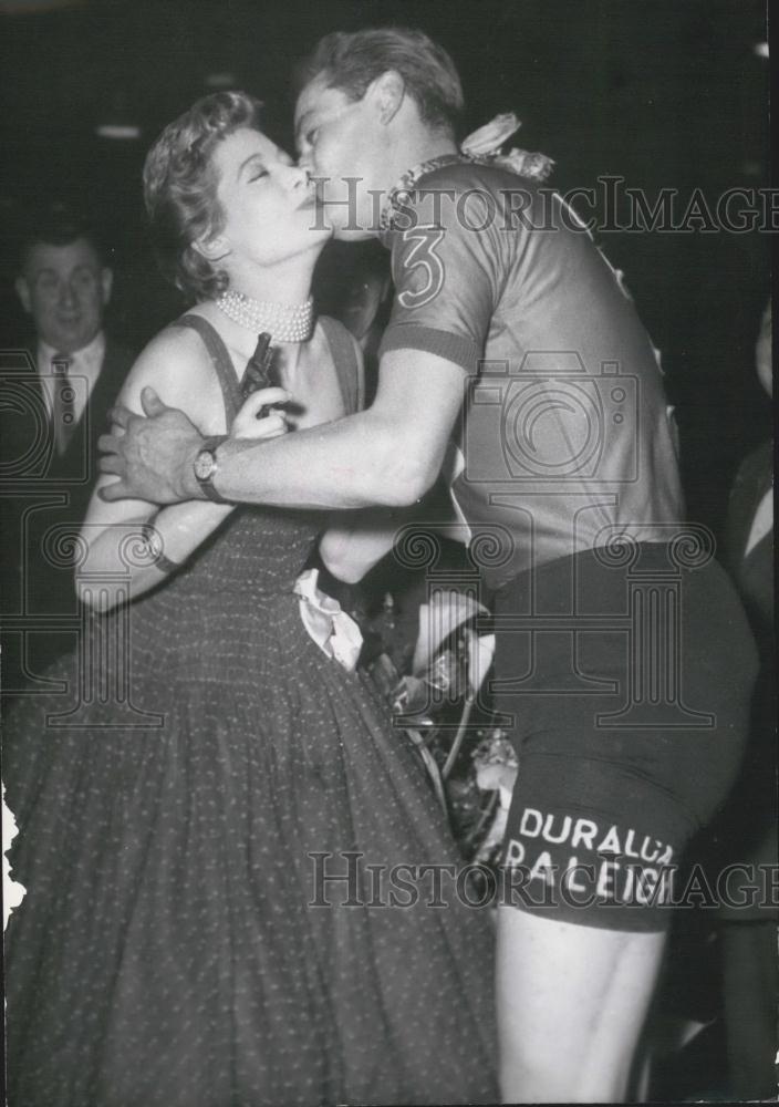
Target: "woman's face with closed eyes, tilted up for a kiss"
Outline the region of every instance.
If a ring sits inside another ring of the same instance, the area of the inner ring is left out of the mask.
[[[304,169],[258,131],[242,128],[212,154],[224,227],[211,240],[219,263],[269,267],[319,254],[331,232],[316,217],[315,192]]]

